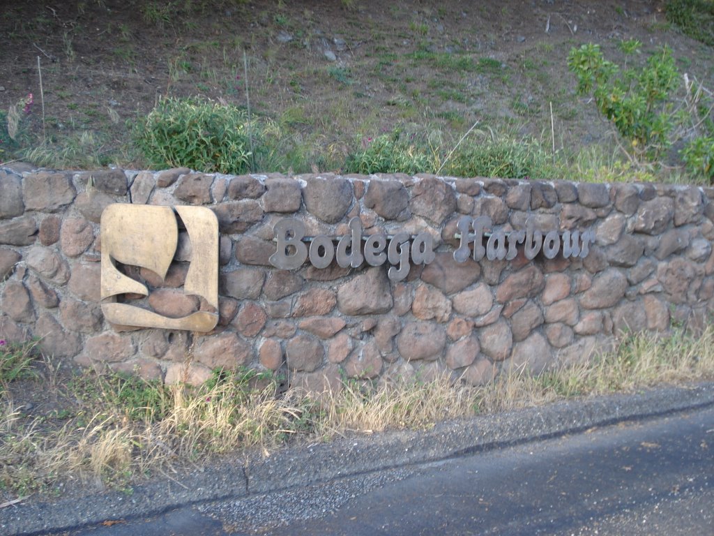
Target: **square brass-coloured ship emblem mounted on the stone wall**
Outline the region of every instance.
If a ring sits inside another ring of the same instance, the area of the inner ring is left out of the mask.
[[[121,294],[148,296],[145,284],[116,263],[150,269],[164,279],[178,245],[176,213],[191,239],[191,264],[183,292],[201,299],[198,311],[170,318],[144,307],[116,302]],[[101,215],[101,310],[114,324],[211,331],[218,323],[218,220],[204,207],[111,204]],[[208,310],[204,310],[208,309]]]

